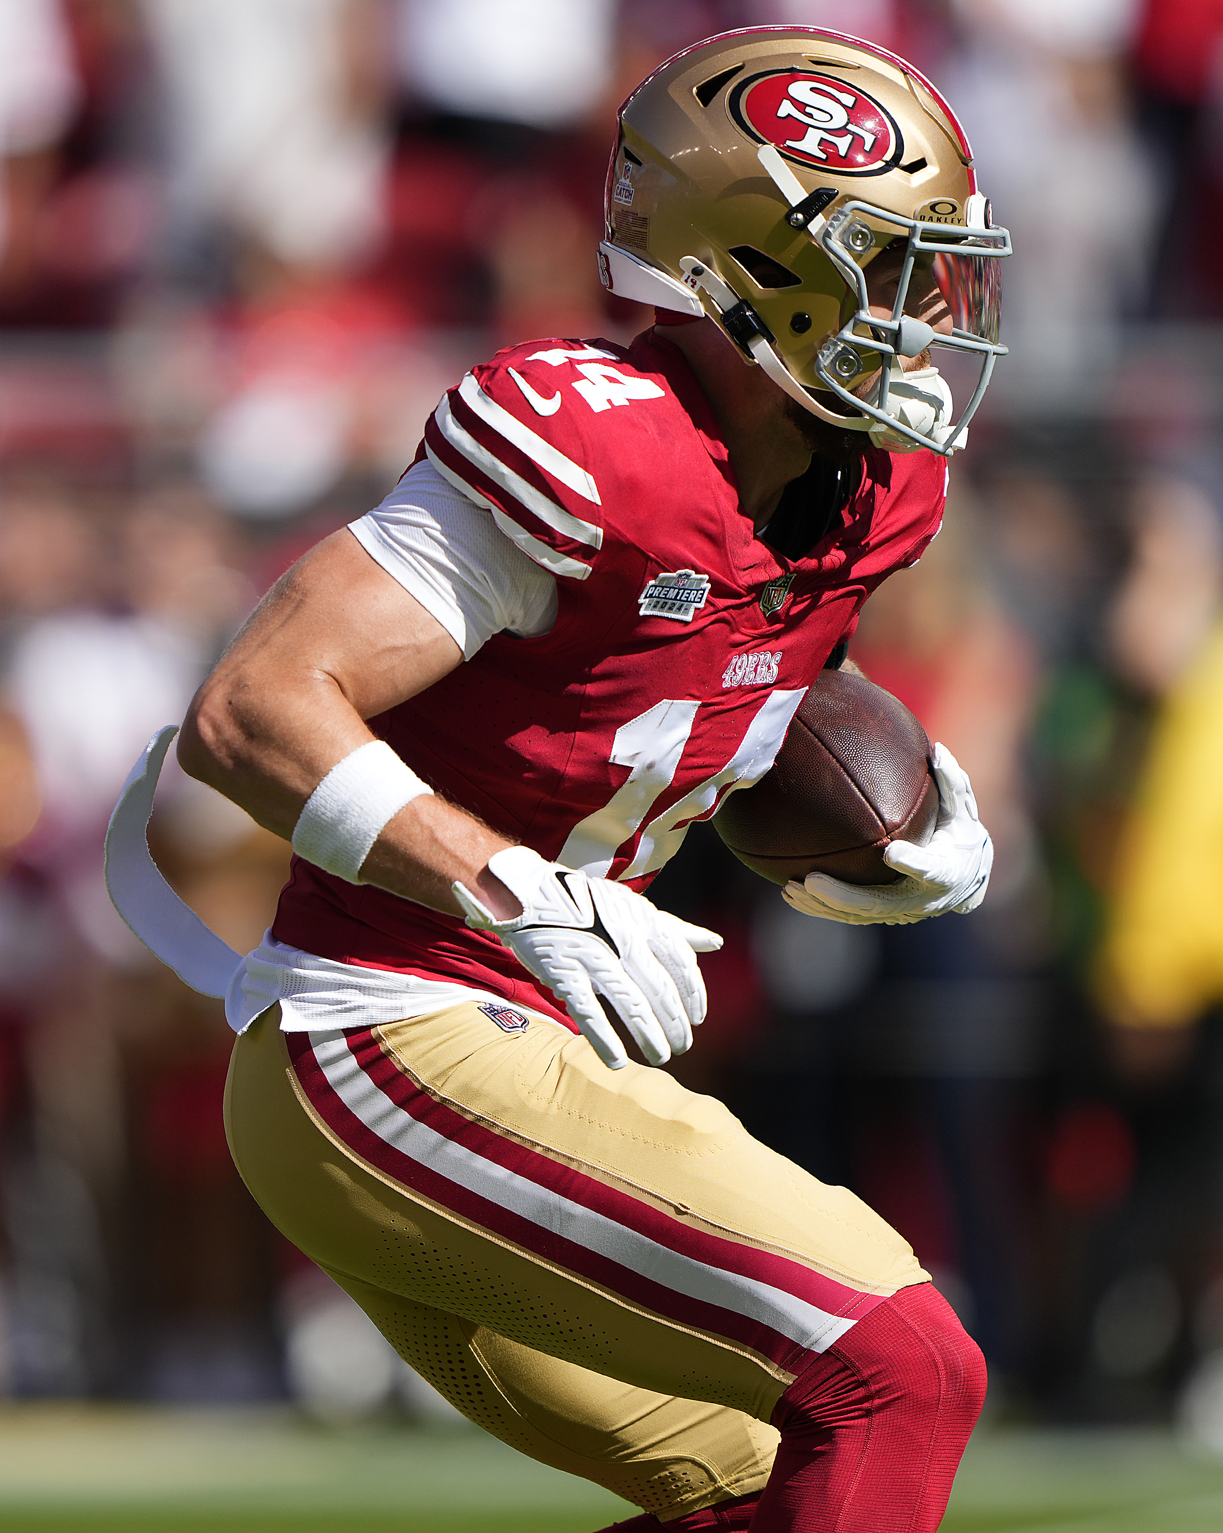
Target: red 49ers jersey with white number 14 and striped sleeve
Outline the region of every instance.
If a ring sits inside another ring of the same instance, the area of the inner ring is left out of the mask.
[[[371,719],[440,794],[544,857],[644,889],[693,820],[772,765],[867,595],[936,533],[946,469],[871,451],[838,524],[775,553],[739,507],[680,351],[544,340],[449,391],[423,451],[556,576],[556,622],[495,635]],[[444,978],[561,1018],[461,920],[294,858],[273,934],[348,963]]]

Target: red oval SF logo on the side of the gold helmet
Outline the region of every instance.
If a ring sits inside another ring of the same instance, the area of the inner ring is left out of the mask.
[[[877,176],[903,153],[900,129],[886,107],[831,75],[800,69],[751,75],[731,94],[730,109],[757,144],[775,144],[798,166]]]

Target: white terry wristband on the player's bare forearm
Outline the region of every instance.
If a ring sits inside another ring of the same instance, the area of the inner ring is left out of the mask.
[[[432,791],[386,740],[359,745],[307,799],[293,828],[293,849],[323,872],[360,883],[362,863],[383,825]]]

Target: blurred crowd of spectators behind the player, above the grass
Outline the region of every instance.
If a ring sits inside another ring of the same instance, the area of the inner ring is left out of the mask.
[[[843,927],[697,828],[656,892],[728,940],[676,1069],[913,1242],[999,1416],[1223,1452],[1220,0],[0,0],[0,1395],[444,1415],[245,1194],[219,1006],[101,837],[467,363],[650,322],[596,274],[615,107],[777,21],[924,69],[1015,236],[946,530],[855,642],[998,863]],[[287,846],[181,776],[153,835],[253,946]]]

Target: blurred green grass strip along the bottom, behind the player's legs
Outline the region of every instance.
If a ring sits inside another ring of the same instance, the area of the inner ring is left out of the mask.
[[[478,1432],[288,1410],[0,1409],[5,1533],[592,1533],[633,1512]],[[946,1533],[1220,1533],[1223,1461],[1159,1432],[982,1430]]]

